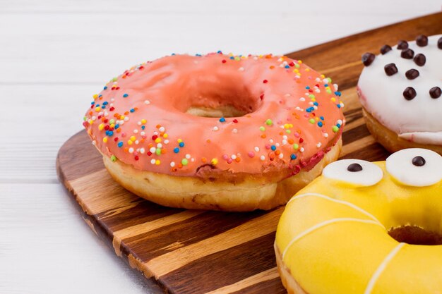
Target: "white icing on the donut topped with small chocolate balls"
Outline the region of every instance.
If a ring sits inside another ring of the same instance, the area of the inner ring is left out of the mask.
[[[421,144],[442,145],[442,97],[433,99],[429,95],[432,87],[442,89],[442,49],[437,47],[441,36],[429,37],[426,47],[408,42],[414,56],[425,55],[424,66],[417,66],[413,59],[403,59],[401,50],[393,47],[376,56],[364,68],[358,82],[361,103],[374,118],[400,137]],[[384,66],[388,63],[395,63],[398,73],[386,75]],[[419,71],[419,77],[408,80],[405,72],[412,68]],[[417,92],[410,101],[403,97],[406,87]]]

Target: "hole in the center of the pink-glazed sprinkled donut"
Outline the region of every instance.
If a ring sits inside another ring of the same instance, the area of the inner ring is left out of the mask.
[[[230,118],[245,116],[262,104],[261,93],[252,93],[241,76],[217,73],[196,75],[185,82],[185,97],[176,107],[192,116]],[[178,106],[177,106],[178,105]]]

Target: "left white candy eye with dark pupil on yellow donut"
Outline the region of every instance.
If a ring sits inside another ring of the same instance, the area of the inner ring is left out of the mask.
[[[341,180],[358,186],[376,185],[383,178],[383,172],[379,166],[359,159],[342,159],[328,164],[322,175],[325,178]]]

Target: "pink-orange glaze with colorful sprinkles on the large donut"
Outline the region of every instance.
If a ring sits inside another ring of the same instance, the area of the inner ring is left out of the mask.
[[[173,55],[108,82],[83,125],[103,154],[136,169],[294,174],[316,164],[342,133],[335,91],[323,75],[285,56]],[[222,121],[186,113],[227,105],[248,114]]]

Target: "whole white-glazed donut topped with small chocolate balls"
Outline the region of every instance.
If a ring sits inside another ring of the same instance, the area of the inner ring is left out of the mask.
[[[398,42],[393,49],[385,45],[380,55],[366,53],[362,61],[365,68],[359,78],[358,93],[367,124],[372,123],[369,130],[376,133],[374,126],[379,123],[397,135],[396,140],[414,143],[392,146],[390,143],[397,142],[393,138],[393,142],[386,142],[388,134],[375,135],[392,152],[406,147],[429,147],[440,153],[442,35],[420,35],[413,42]]]

